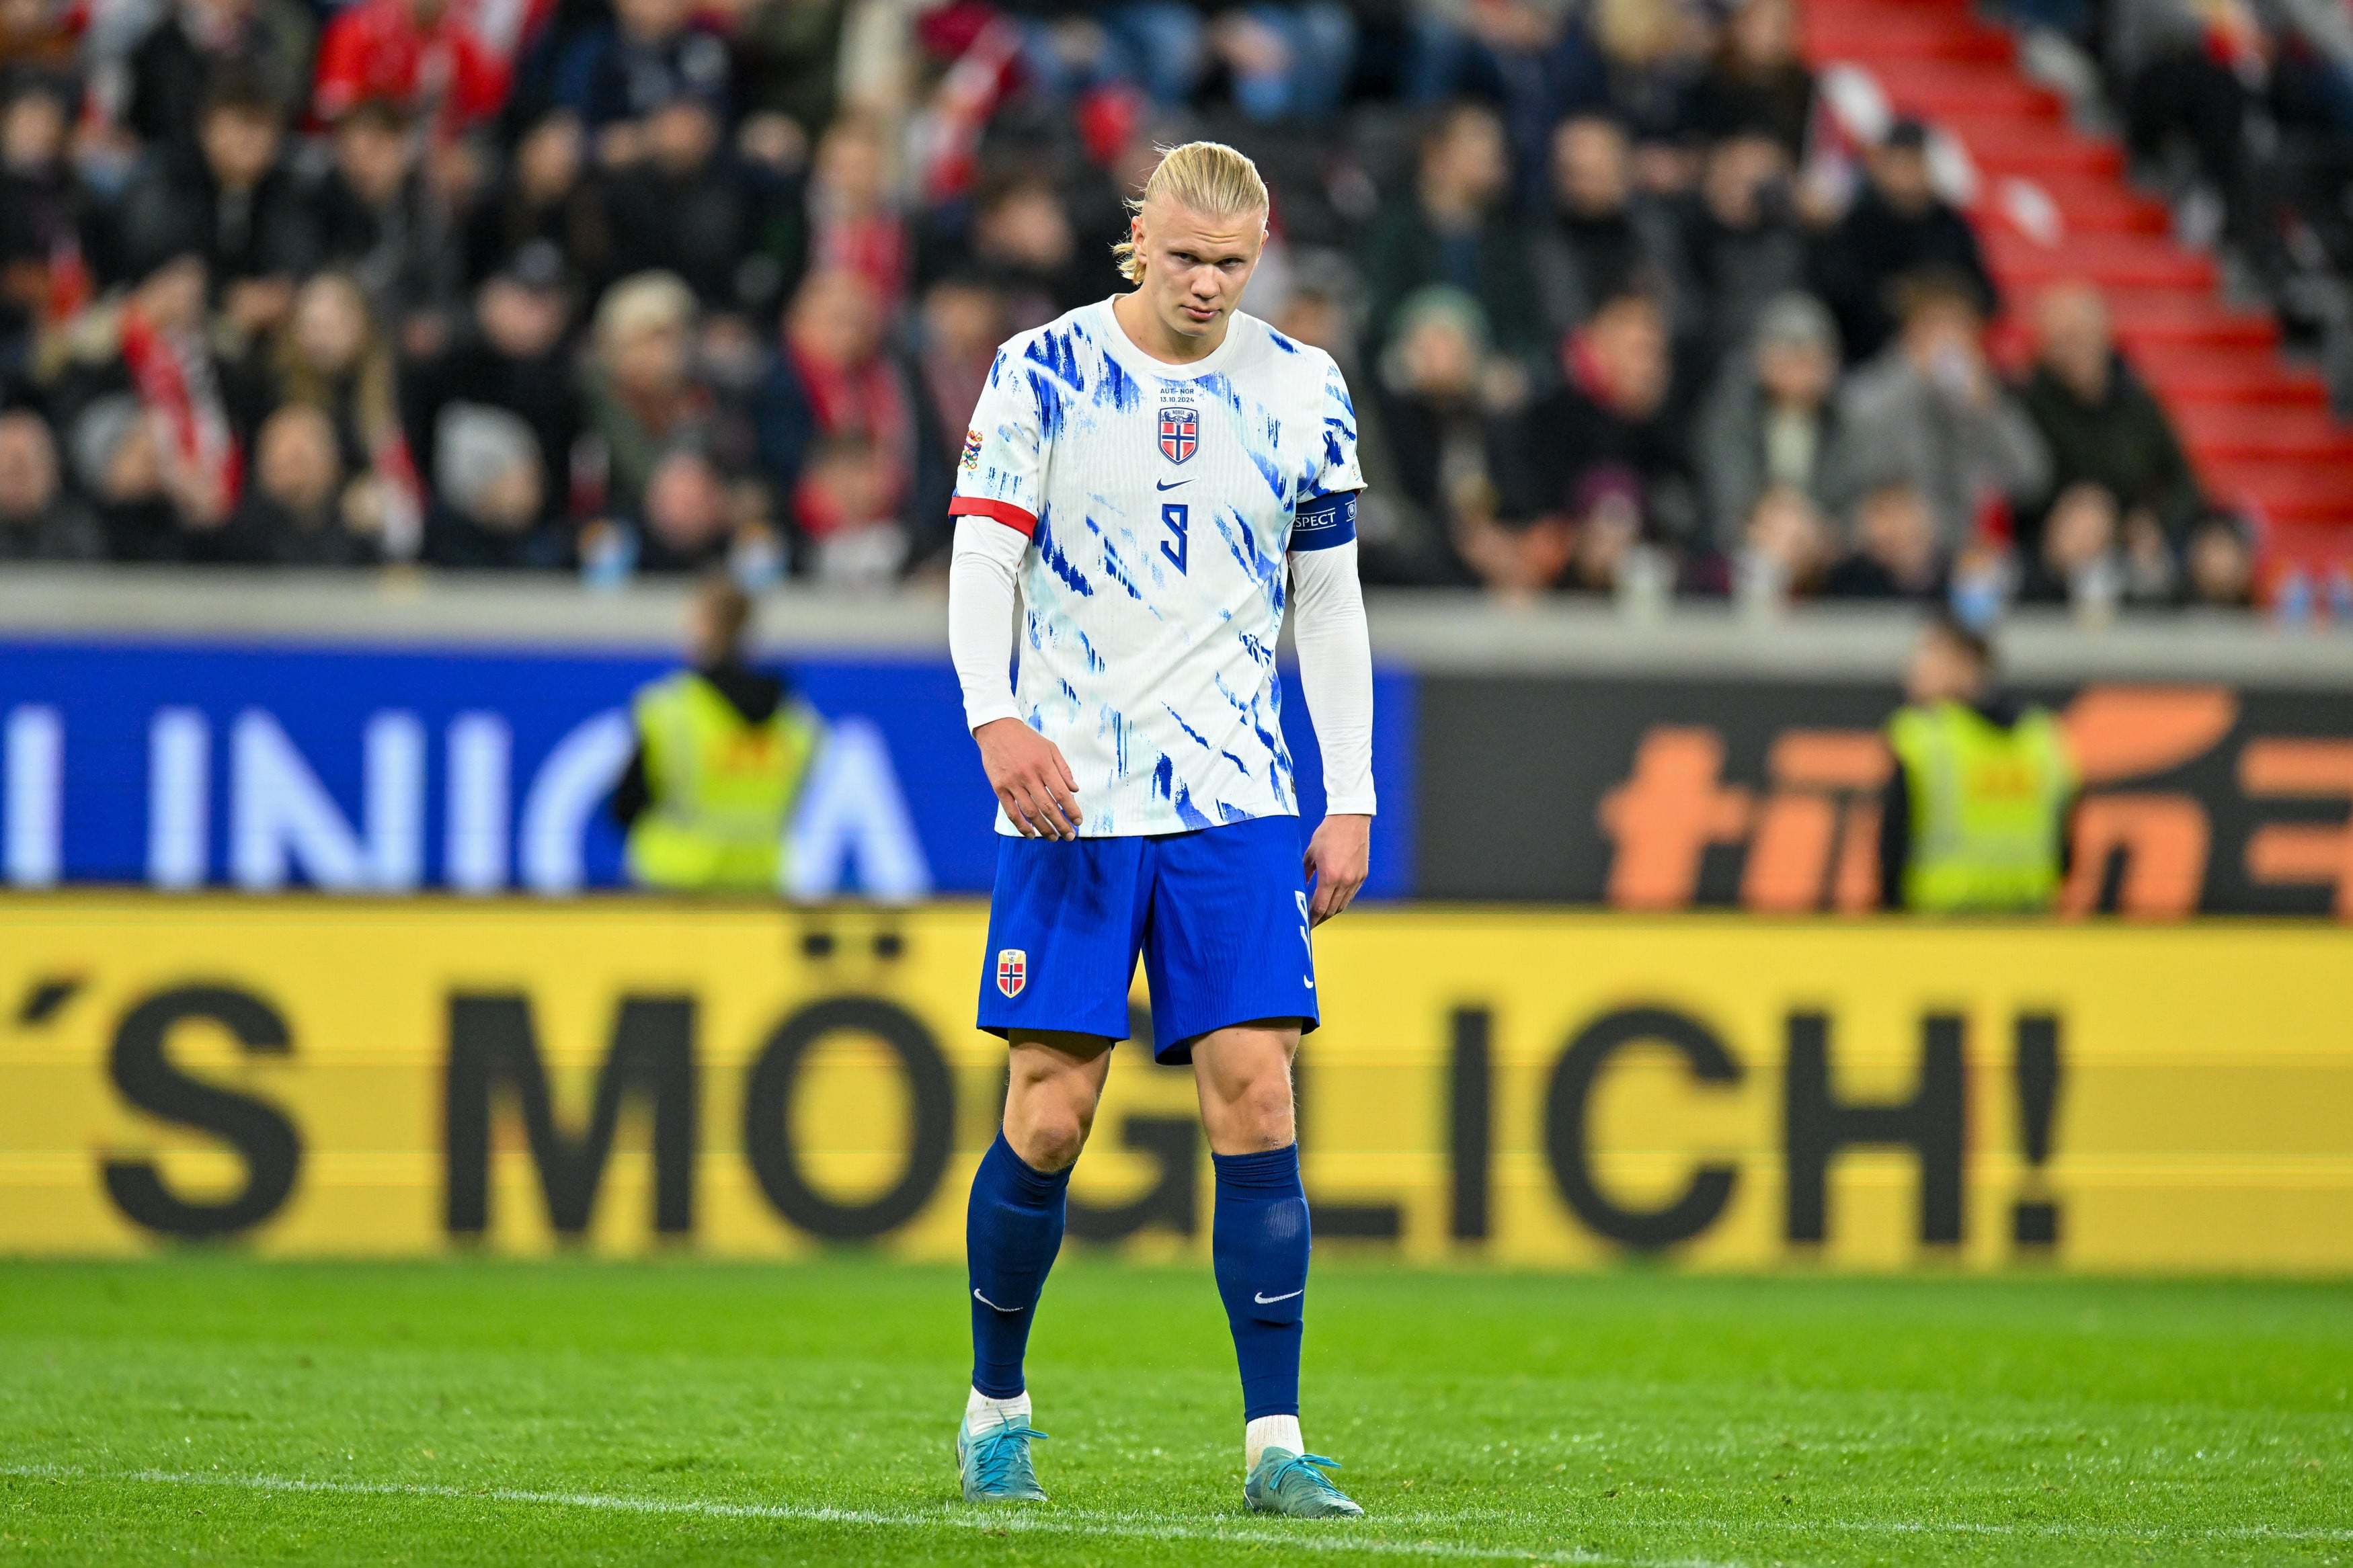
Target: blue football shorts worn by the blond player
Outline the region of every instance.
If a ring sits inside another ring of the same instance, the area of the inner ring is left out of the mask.
[[[981,1027],[1127,1039],[1144,954],[1153,1058],[1191,1063],[1209,1030],[1313,1030],[1315,954],[1297,816],[1127,839],[998,837]]]

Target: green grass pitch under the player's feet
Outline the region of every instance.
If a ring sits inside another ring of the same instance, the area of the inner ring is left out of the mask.
[[[1242,1512],[1207,1269],[1066,1258],[1054,1502],[974,1512],[962,1274],[0,1262],[0,1561],[2337,1563],[2353,1284],[1706,1279],[1325,1260]]]

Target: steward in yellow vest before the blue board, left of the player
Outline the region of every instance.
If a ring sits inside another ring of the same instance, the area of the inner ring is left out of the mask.
[[[694,599],[692,670],[633,703],[638,755],[614,788],[628,875],[680,893],[774,893],[784,832],[824,719],[744,663],[751,599],[725,578]]]

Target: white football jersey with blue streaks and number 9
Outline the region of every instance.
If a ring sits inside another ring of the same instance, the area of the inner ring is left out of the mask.
[[[1353,538],[1353,510],[1299,538],[1292,520],[1362,484],[1339,367],[1252,315],[1184,367],[1111,301],[998,350],[948,510],[1031,536],[1014,701],[1078,773],[1082,837],[1299,813],[1285,555]]]

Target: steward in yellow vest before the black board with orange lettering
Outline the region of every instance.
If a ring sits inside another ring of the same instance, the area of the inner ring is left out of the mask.
[[[1887,722],[1880,903],[1918,914],[2038,914],[2066,882],[2075,762],[2045,708],[1986,696],[1986,639],[1939,621]]]

